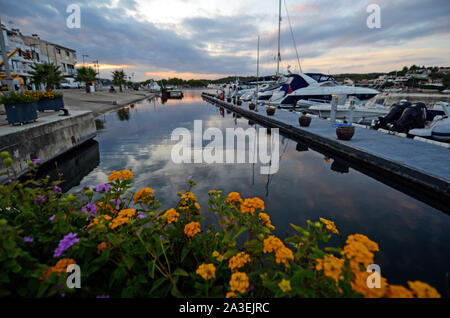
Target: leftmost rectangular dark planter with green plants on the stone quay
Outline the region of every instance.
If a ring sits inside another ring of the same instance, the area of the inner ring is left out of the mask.
[[[12,92],[0,97],[0,104],[5,105],[6,117],[11,125],[36,121],[37,101],[38,97],[29,93]]]

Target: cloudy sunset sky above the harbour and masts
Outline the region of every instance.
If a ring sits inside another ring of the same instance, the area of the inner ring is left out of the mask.
[[[450,66],[448,0],[283,0],[281,70],[298,71],[284,8],[287,4],[304,72],[364,73],[404,65]],[[66,8],[81,8],[81,28],[69,29]],[[369,29],[369,4],[381,8],[381,28]],[[8,28],[38,35],[99,60],[101,77],[123,68],[134,80],[214,79],[276,69],[277,0],[0,0]]]

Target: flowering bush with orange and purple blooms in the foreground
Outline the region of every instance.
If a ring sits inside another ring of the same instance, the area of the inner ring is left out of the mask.
[[[7,156],[2,154],[2,158]],[[34,163],[30,162],[33,167]],[[133,174],[114,171],[102,187],[63,194],[60,181],[0,186],[0,295],[22,297],[439,297],[423,282],[368,288],[378,244],[339,235],[320,219],[281,240],[259,198],[209,191],[217,224],[206,227],[192,193],[162,209],[150,188],[129,191]],[[81,288],[66,287],[66,268]]]

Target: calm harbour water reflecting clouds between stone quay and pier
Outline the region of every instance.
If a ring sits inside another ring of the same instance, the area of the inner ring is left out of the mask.
[[[187,188],[187,177],[193,176],[197,182],[193,192],[204,211],[207,192],[215,189],[264,199],[276,234],[282,237],[293,234],[289,223],[304,226],[308,219],[334,220],[344,237],[363,233],[378,242],[381,252],[375,262],[390,283],[423,280],[445,293],[450,217],[442,211],[345,164],[333,163],[324,154],[298,151],[302,147],[286,138],[280,142],[280,169],[270,177],[252,164],[174,164],[171,149],[176,142],[170,136],[175,128],[193,131],[197,119],[203,120],[204,129],[217,127],[224,135],[228,127],[249,127],[245,118],[204,102],[199,92],[186,92],[183,100],[165,104],[144,101],[100,119],[104,128],[96,138],[98,144],[92,146],[95,151],[99,148],[100,161],[81,185],[105,183],[112,170],[131,169],[134,190],[152,187],[163,208],[169,208],[177,201],[176,193]],[[207,221],[214,218],[207,216]]]

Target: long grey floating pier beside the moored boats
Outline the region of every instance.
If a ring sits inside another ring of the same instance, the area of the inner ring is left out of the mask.
[[[278,128],[287,137],[321,148],[349,163],[357,163],[373,174],[408,184],[429,199],[450,202],[448,148],[362,127],[355,128],[351,141],[341,141],[337,139],[333,124],[325,119],[313,117],[310,127],[300,127],[300,115],[295,112],[277,109],[275,115],[268,116],[262,106],[255,112],[248,109],[248,103],[236,106],[206,93],[202,97],[262,126]]]

